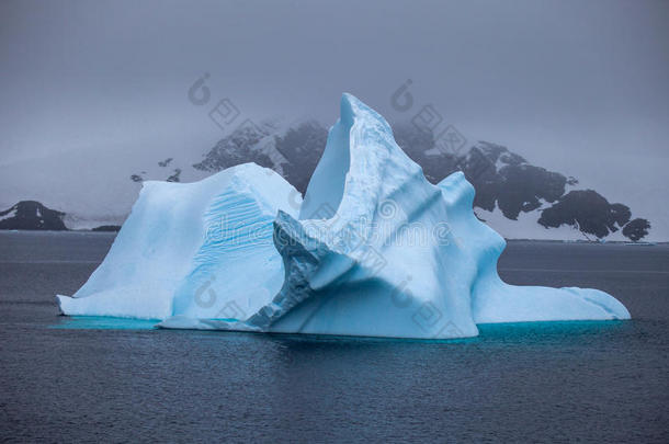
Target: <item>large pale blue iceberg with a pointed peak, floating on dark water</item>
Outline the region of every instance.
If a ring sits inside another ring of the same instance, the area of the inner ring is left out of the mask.
[[[504,240],[473,198],[460,172],[429,183],[387,122],[343,94],[304,203],[256,164],[146,183],[104,262],[60,308],[165,328],[394,338],[630,318],[597,289],[503,283]]]

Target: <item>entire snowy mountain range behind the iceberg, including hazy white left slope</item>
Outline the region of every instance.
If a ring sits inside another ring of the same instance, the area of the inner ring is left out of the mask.
[[[143,181],[191,182],[245,162],[273,169],[304,193],[325,149],[327,128],[309,119],[257,122],[246,121],[208,149],[203,143],[185,147],[174,140],[141,150],[72,150],[0,166],[0,208],[32,200],[66,212],[70,229],[120,225]],[[649,232],[649,223],[635,218],[624,203],[581,190],[577,179],[534,166],[506,147],[478,141],[449,149],[411,123],[395,123],[393,130],[432,183],[462,170],[476,189],[476,214],[506,238],[637,240]]]

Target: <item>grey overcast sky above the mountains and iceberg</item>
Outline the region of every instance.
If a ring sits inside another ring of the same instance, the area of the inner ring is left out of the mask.
[[[432,103],[468,139],[667,228],[668,42],[669,1],[4,0],[0,167],[77,150],[200,155],[220,137],[186,99],[205,72],[213,99],[249,116],[324,123],[343,91],[407,117],[390,95],[411,79],[415,111]]]

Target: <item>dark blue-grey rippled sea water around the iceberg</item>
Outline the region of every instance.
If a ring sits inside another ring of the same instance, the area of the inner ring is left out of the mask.
[[[58,317],[107,234],[0,232],[0,440],[669,442],[669,247],[510,242],[513,284],[589,286],[632,321],[398,341]]]

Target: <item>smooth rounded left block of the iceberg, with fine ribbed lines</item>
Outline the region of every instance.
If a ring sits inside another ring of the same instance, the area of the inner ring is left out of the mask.
[[[283,283],[272,241],[279,208],[297,215],[299,193],[247,163],[195,183],[145,182],[109,254],[66,315],[246,319]]]

